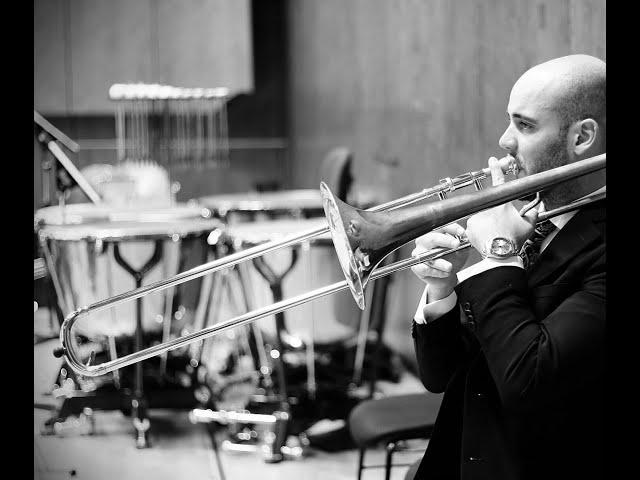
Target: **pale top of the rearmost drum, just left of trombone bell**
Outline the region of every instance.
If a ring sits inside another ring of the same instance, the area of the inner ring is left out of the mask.
[[[243,192],[202,197],[199,203],[229,223],[324,216],[320,190]]]

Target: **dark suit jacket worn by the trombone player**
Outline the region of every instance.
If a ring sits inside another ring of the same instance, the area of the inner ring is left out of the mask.
[[[582,209],[529,273],[473,276],[414,322],[422,382],[445,391],[416,478],[606,478],[605,227],[605,202]]]

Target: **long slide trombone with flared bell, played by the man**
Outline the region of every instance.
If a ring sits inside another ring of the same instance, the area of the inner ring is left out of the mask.
[[[503,185],[482,189],[480,180],[490,175],[490,170],[485,168],[476,172],[465,173],[453,179],[447,178],[441,180],[439,185],[435,187],[387,202],[369,210],[359,210],[336,199],[326,184],[321,183],[320,190],[328,221],[327,227],[308,230],[279,241],[258,245],[257,247],[200,265],[170,279],[161,280],[145,287],[79,308],[70,313],[62,323],[60,329],[61,347],[54,351],[54,355],[56,357],[64,355],[67,364],[76,373],[96,377],[347,288],[351,290],[358,306],[364,309],[364,289],[370,280],[375,280],[424,261],[434,260],[453,253],[454,251],[468,248],[470,244],[467,241],[463,241],[454,249],[434,249],[419,256],[376,268],[376,266],[396,248],[431,230],[481,210],[526,197],[540,190],[605,168],[606,154],[601,154],[524,178],[515,179]],[[506,169],[508,173],[517,173],[517,167],[513,159],[511,159],[510,164],[503,163],[503,169]],[[468,185],[474,185],[477,191],[446,198],[447,193]],[[433,195],[438,195],[441,200],[426,205],[408,207],[413,203]],[[604,198],[606,198],[606,192],[588,196],[566,206],[543,212],[539,215],[538,220],[542,221],[562,213],[576,210]],[[390,213],[390,211],[400,207],[408,208],[403,208],[393,214]],[[255,258],[278,248],[303,242],[327,231],[331,232],[339,263],[345,274],[345,280],[252,310],[199,331],[99,365],[92,365],[95,360],[95,352],[91,352],[89,361],[83,364],[78,353],[73,348],[74,337],[71,332],[73,324],[91,312],[113,307],[125,301],[136,299],[149,293],[213,273],[222,268],[229,268],[241,261]]]

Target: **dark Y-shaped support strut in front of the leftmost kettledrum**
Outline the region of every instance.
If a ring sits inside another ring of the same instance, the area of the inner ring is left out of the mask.
[[[116,262],[124,268],[136,282],[136,288],[142,287],[142,280],[144,276],[151,270],[159,261],[162,256],[162,242],[155,242],[155,248],[153,255],[144,264],[140,270],[135,270],[131,267],[120,255],[120,248],[118,244],[113,246],[113,256]],[[135,332],[135,349],[136,351],[142,350],[142,299],[136,299],[136,332]],[[146,448],[149,446],[147,438],[147,430],[149,430],[149,419],[147,418],[147,401],[144,398],[143,393],[143,372],[142,362],[138,362],[135,365],[135,377],[134,377],[134,391],[133,398],[131,399],[131,407],[133,408],[133,426],[136,429],[136,447]]]

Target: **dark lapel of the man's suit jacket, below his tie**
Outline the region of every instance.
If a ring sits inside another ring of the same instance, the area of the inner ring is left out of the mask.
[[[540,254],[529,273],[529,285],[533,287],[553,277],[559,269],[598,242],[603,237],[605,218],[604,202],[576,213]]]

